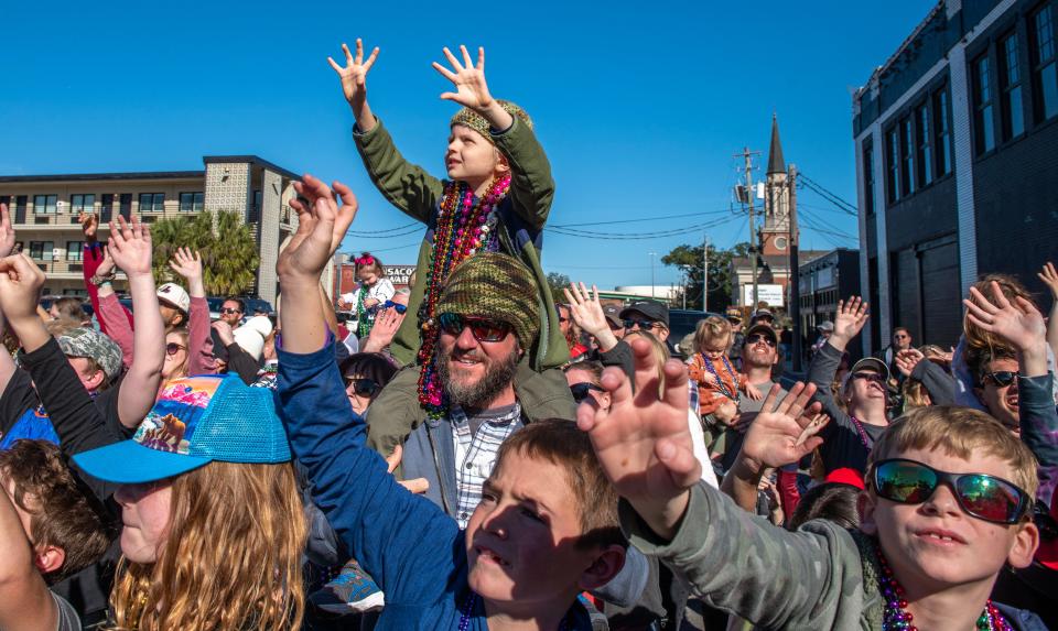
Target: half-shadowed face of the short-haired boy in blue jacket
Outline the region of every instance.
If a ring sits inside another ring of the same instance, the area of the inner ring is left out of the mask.
[[[511,452],[497,463],[466,529],[467,581],[487,602],[503,602],[505,611],[564,611],[576,594],[620,569],[617,546],[576,546],[580,514],[565,480],[548,460]]]

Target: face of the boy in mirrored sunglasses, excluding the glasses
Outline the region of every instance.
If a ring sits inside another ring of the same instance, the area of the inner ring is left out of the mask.
[[[964,460],[940,449],[909,449],[895,458],[917,460],[952,474],[987,474],[1010,480],[1010,465],[995,456]],[[861,530],[875,535],[897,580],[914,594],[954,586],[991,589],[1005,563],[1026,567],[1039,534],[1030,522],[1014,525],[986,522],[963,512],[948,485],[940,485],[920,504],[861,494]],[[948,538],[943,538],[948,537]]]

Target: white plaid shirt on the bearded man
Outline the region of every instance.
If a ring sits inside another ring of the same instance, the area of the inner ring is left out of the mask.
[[[452,439],[455,442],[455,478],[458,488],[455,520],[466,527],[471,513],[482,501],[482,486],[493,472],[499,446],[522,427],[521,405],[517,402],[501,416],[486,418],[471,433],[471,422],[463,409],[453,405],[449,411]]]

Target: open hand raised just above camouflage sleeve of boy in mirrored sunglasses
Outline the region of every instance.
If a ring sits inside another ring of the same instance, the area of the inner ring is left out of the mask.
[[[738,459],[752,471],[796,463],[823,443],[816,434],[825,425],[827,416],[818,415],[820,403],[809,405],[816,384],[794,384],[776,406],[780,391],[778,384],[771,387],[742,443]]]

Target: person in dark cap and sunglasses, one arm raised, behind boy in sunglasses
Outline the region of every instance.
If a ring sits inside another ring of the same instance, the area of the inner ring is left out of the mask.
[[[820,347],[808,369],[808,380],[817,387],[814,400],[820,402],[832,420],[820,434],[823,446],[820,456],[827,474],[836,469],[866,471],[867,455],[889,424],[889,369],[884,361],[865,357],[852,366],[838,395],[844,400],[844,410],[838,405],[831,384],[841,366],[842,353],[867,323],[867,304],[859,296],[838,303],[834,331]]]

